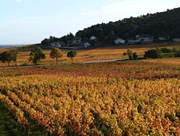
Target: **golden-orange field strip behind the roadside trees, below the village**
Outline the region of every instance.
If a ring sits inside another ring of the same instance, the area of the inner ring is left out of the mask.
[[[173,48],[176,45],[180,45],[179,43],[152,43],[147,45],[126,45],[126,46],[112,46],[112,47],[102,47],[97,49],[90,50],[77,50],[77,56],[74,58],[75,63],[86,62],[86,61],[94,61],[94,60],[110,60],[110,59],[122,59],[128,58],[128,56],[123,56],[123,53],[127,51],[128,48],[131,48],[133,52],[136,52],[138,56],[144,56],[144,52],[151,48],[156,47],[168,47]],[[27,49],[18,48],[18,56],[17,56],[17,65],[32,65],[29,63],[29,54],[32,49],[32,45],[30,45]],[[7,49],[0,49],[0,52]],[[26,50],[26,51],[23,51]],[[71,63],[71,60],[67,57],[68,50],[62,50],[63,57],[59,59],[59,63]],[[50,58],[51,50],[44,50],[46,59],[41,60],[39,64],[55,64],[55,60]],[[12,62],[12,65],[13,62]],[[1,63],[0,66],[8,66],[7,63]]]

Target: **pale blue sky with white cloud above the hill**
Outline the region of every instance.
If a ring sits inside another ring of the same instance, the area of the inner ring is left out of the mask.
[[[179,0],[0,0],[0,45],[40,43],[92,25],[178,7]]]

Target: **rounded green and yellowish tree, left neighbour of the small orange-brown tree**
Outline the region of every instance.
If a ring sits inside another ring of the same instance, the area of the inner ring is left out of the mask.
[[[45,59],[45,54],[43,53],[43,50],[40,47],[33,48],[29,55],[30,55],[29,61],[32,61],[33,64],[35,65],[41,59]]]

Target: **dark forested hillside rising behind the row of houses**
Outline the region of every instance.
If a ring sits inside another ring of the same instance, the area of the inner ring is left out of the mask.
[[[83,30],[79,30],[75,36],[82,37],[82,40],[96,36],[101,43],[113,43],[117,37],[133,39],[138,34],[149,34],[158,41],[158,37],[168,37],[169,41],[180,37],[180,8],[157,12],[154,14],[142,15],[139,17],[124,18],[107,24],[97,24]],[[42,42],[62,41],[65,44],[73,39],[70,33],[61,38],[44,39]]]

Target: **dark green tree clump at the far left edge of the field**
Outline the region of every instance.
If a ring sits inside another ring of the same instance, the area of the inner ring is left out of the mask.
[[[0,54],[0,60],[2,63],[7,61],[8,66],[10,66],[11,61],[14,61],[14,64],[16,65],[17,54],[17,50],[4,51]]]

